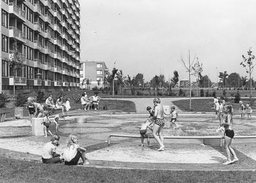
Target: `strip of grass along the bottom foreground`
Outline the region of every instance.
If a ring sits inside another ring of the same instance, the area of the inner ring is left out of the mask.
[[[141,167],[143,168],[143,167]],[[255,182],[254,171],[167,171],[94,168],[0,157],[0,182]]]

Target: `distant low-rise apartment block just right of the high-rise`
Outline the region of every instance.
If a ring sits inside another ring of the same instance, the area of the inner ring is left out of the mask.
[[[81,62],[80,83],[83,82],[83,79],[89,79],[89,81],[91,81],[90,88],[93,88],[95,86],[103,87],[103,81],[107,76],[108,72],[109,70],[105,62]],[[98,81],[100,81],[100,85],[98,85]],[[81,88],[87,88],[87,85],[81,85]]]

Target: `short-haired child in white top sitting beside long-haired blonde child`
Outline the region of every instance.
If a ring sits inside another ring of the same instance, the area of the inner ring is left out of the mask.
[[[56,154],[56,146],[59,146],[59,135],[51,136],[51,142],[43,146],[42,161],[43,163],[58,163],[63,159],[63,156]]]

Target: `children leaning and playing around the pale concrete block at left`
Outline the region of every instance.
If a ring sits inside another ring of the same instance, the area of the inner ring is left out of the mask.
[[[32,118],[43,118],[43,132],[45,134],[45,137],[47,137],[47,134],[50,133],[51,135],[53,135],[51,133],[51,131],[48,130],[48,128],[50,127],[51,124],[51,120],[49,118],[50,116],[50,112],[48,112],[48,110],[44,110],[43,106],[37,102],[34,102],[34,98],[29,97],[28,98],[28,106],[27,109],[29,110],[29,121],[31,123],[32,126]],[[58,131],[59,129],[59,118],[64,118],[63,113],[55,115],[55,117],[53,118],[53,123],[55,123],[56,125],[56,131]]]

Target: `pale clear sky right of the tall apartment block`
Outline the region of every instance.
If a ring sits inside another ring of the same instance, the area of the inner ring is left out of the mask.
[[[256,55],[256,1],[80,0],[81,61],[105,62],[145,82],[178,71],[181,57],[203,64],[203,76],[247,76],[242,55]],[[256,63],[256,60],[255,60]],[[256,78],[256,71],[252,73]],[[195,77],[192,76],[192,81]]]

